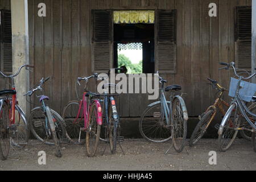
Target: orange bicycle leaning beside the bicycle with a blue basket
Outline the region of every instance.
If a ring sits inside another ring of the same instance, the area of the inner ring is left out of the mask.
[[[216,80],[212,80],[211,78],[208,78],[208,80],[213,89],[218,90],[218,95],[214,104],[209,106],[208,109],[199,116],[199,122],[197,123],[195,130],[193,130],[191,139],[189,140],[190,147],[194,146],[204,136],[210,123],[212,123],[217,114],[217,109],[220,110],[222,115],[225,115],[226,111],[224,110],[224,106],[229,107],[229,104],[222,99],[223,94],[227,89],[218,84]]]

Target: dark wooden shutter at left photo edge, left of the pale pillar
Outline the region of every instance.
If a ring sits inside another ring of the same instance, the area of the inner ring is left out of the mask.
[[[13,72],[11,37],[11,11],[1,10],[0,69],[7,74]]]

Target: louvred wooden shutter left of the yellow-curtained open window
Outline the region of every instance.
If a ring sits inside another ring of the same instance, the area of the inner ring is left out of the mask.
[[[92,10],[92,72],[106,72],[113,64],[113,18],[110,10]]]

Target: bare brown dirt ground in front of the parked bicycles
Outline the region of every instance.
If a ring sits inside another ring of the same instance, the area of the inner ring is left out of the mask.
[[[88,158],[84,145],[65,144],[63,157],[56,158],[54,147],[30,140],[23,150],[11,149],[9,158],[0,161],[0,170],[256,170],[256,154],[250,142],[237,139],[227,152],[219,152],[216,139],[203,139],[195,147],[188,143],[178,154],[167,143],[148,143],[144,139],[125,139],[121,144],[125,155],[118,146],[115,155],[110,154],[109,146],[100,143],[97,156]],[[38,152],[46,152],[46,165],[38,164]],[[209,165],[209,152],[217,152],[217,165]]]

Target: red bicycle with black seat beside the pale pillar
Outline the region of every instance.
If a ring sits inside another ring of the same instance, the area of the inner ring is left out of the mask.
[[[10,143],[13,146],[23,148],[28,142],[29,132],[26,114],[16,100],[16,89],[14,77],[18,76],[23,67],[34,68],[32,65],[24,64],[14,75],[0,75],[11,79],[11,90],[0,92],[0,158],[6,160],[10,150]]]

